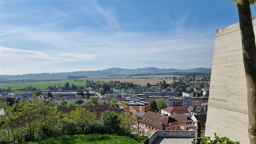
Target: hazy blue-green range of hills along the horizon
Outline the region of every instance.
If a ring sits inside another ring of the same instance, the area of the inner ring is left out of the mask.
[[[210,68],[193,68],[193,69],[159,69],[159,68],[137,68],[137,69],[124,69],[124,68],[109,68],[101,71],[77,71],[77,72],[57,72],[57,73],[31,73],[24,75],[0,75],[0,79],[30,79],[34,78],[49,78],[49,77],[67,77],[67,75],[86,75],[86,76],[101,76],[101,75],[116,75],[116,74],[135,74],[135,73],[170,73],[170,72],[211,72]]]

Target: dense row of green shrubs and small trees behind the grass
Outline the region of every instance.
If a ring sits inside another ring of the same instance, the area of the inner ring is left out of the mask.
[[[138,123],[129,112],[104,111],[101,119],[94,111],[76,107],[69,113],[58,112],[52,102],[16,101],[0,103],[5,114],[0,117],[0,144],[39,141],[49,137],[75,134],[127,134]]]

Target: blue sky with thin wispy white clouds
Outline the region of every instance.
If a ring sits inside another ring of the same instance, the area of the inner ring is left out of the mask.
[[[215,31],[239,21],[226,0],[0,4],[1,75],[211,68]]]

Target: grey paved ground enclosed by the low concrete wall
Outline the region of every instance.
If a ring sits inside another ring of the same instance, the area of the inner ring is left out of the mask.
[[[157,137],[152,144],[191,144],[191,138],[187,137]]]

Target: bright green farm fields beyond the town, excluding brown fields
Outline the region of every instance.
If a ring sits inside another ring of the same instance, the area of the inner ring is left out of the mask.
[[[79,79],[80,80],[80,79]],[[86,79],[83,79],[84,81]],[[123,79],[89,79],[89,80],[103,80],[103,81],[111,81],[111,80],[123,80]],[[61,86],[63,86],[64,83],[69,83],[72,84],[74,83],[76,86],[84,86],[86,83],[85,82],[73,82],[73,80],[55,80],[55,81],[40,81],[40,82],[29,82],[29,83],[0,83],[0,88],[6,88],[6,87],[11,87],[12,90],[16,90],[16,89],[22,89],[26,86],[34,86],[35,88],[46,88],[48,85],[53,85],[53,84],[57,84],[59,83]],[[123,82],[123,81],[122,81]]]

